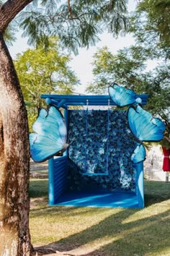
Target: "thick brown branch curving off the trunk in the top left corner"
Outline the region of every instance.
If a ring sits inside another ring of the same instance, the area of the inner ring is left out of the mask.
[[[14,17],[30,4],[32,0],[8,0],[0,7],[0,32],[4,33],[6,27]]]

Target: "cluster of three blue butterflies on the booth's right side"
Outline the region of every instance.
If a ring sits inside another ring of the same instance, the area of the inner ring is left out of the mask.
[[[128,109],[128,124],[131,132],[138,142],[143,141],[160,141],[164,137],[165,124],[145,111],[139,104],[140,98],[136,98],[133,90],[128,90],[114,83],[109,86],[109,95],[117,106],[130,106]],[[140,163],[146,159],[146,150],[143,144],[138,143],[131,161]]]

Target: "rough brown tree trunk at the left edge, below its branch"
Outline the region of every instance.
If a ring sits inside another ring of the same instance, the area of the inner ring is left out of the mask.
[[[32,255],[27,111],[0,33],[0,255]]]

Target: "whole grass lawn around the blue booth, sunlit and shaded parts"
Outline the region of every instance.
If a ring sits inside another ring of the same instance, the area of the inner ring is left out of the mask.
[[[146,181],[142,210],[49,207],[48,179],[31,179],[30,197],[37,255],[170,256],[170,183]]]

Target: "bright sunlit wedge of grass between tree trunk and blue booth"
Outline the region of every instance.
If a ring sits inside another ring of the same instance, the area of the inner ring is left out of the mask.
[[[101,208],[69,208],[69,207],[48,207],[32,210],[30,223],[33,235],[32,242],[56,242],[60,239],[73,236],[74,234],[91,229],[113,214],[118,214],[122,209]],[[91,218],[93,216],[93,218]],[[95,216],[95,218],[94,218]],[[41,232],[42,226],[45,233]],[[36,230],[35,230],[36,229]],[[99,230],[102,233],[102,230]],[[50,234],[50,237],[49,237]]]

